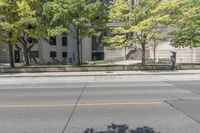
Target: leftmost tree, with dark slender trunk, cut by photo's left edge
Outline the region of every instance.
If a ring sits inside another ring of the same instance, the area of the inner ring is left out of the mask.
[[[17,42],[18,21],[16,2],[0,0],[0,42],[8,45],[10,66],[15,67],[13,59],[13,45]]]

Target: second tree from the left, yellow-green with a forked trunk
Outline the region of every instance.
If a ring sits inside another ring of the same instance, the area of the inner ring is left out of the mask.
[[[23,52],[24,64],[30,65],[29,54],[39,39],[46,37],[47,18],[42,13],[47,0],[21,0],[18,5],[18,43]]]

